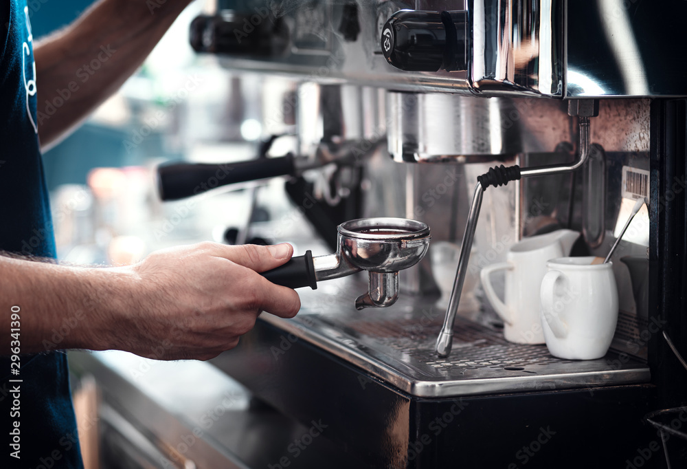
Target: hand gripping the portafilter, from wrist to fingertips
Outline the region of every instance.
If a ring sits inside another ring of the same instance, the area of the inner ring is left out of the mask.
[[[282,265],[291,245],[199,243],[153,252],[131,267],[129,314],[115,347],[158,360],[207,360],[232,349],[262,310],[291,318],[300,298],[257,272]],[[128,323],[128,324],[127,324]]]

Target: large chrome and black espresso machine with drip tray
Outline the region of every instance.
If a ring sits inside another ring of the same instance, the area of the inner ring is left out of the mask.
[[[305,287],[301,312],[262,314],[213,364],[274,411],[326,423],[360,467],[684,464],[675,425],[647,417],[687,400],[687,4],[668,3],[211,2],[193,47],[291,80],[263,127],[297,140],[219,184],[288,176],[337,252],[297,253],[281,283]],[[161,197],[203,192],[219,169],[163,166]],[[508,246],[559,228],[581,232],[573,255],[605,257],[640,197],[613,256],[604,358],[508,342],[479,287],[466,293]],[[359,241],[359,225],[378,233]],[[460,255],[431,255],[442,242]],[[412,262],[385,264],[385,243]]]

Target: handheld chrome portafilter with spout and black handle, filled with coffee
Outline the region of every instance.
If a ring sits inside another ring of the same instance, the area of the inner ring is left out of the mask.
[[[429,248],[429,226],[404,218],[362,218],[341,223],[335,254],[313,257],[311,251],[284,265],[262,272],[278,285],[317,289],[317,282],[367,270],[368,292],[356,309],[387,307],[398,299],[398,271],[420,262]]]

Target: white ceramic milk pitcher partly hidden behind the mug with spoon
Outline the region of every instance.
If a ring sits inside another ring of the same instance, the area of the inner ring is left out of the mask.
[[[504,320],[504,336],[517,344],[543,344],[539,289],[546,274],[546,262],[570,254],[580,233],[557,230],[546,235],[529,237],[510,246],[506,262],[487,265],[481,278],[484,294],[497,314]],[[491,285],[489,276],[506,270],[504,301]]]

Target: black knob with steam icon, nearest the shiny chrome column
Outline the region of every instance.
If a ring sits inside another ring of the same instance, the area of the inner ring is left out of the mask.
[[[407,72],[467,69],[467,13],[401,10],[382,28],[387,61]]]

